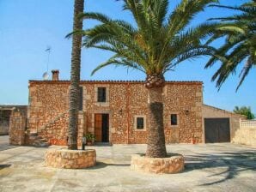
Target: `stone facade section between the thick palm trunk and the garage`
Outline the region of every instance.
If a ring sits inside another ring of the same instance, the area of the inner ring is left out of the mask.
[[[202,84],[170,83],[165,93],[165,125],[168,143],[202,142]],[[170,125],[170,114],[178,114],[178,125]]]

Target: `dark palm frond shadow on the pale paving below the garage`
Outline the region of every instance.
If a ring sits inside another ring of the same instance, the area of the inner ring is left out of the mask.
[[[220,176],[221,179],[201,184],[203,186],[222,183],[235,178],[241,171],[256,171],[256,151],[196,153],[186,155],[185,171],[203,170],[210,168],[226,168],[225,171],[213,172],[208,177]]]

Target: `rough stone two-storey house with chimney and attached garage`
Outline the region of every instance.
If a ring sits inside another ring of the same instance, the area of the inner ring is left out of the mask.
[[[70,81],[29,81],[26,111],[10,114],[10,143],[67,145]],[[163,87],[166,143],[233,141],[245,117],[203,104],[201,81],[167,81]],[[81,81],[78,145],[93,133],[96,142],[147,142],[148,93],[143,81]],[[237,136],[236,136],[237,137]]]

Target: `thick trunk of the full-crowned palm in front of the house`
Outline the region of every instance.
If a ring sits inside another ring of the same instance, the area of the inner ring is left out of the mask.
[[[159,78],[158,80],[159,81]],[[149,126],[148,126],[148,146],[146,156],[150,158],[167,157],[165,146],[165,135],[163,127],[163,104],[162,87],[164,80],[155,87],[155,82],[146,83],[149,90]]]

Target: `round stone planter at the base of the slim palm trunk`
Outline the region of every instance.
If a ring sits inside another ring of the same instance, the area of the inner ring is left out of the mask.
[[[49,149],[46,151],[46,166],[64,169],[81,169],[96,164],[96,152],[94,149],[69,150]]]

